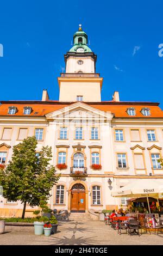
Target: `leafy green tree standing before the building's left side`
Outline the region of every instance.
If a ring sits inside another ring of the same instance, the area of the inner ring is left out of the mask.
[[[36,146],[34,136],[24,139],[13,147],[12,159],[7,167],[0,169],[3,196],[9,201],[20,200],[24,204],[22,218],[26,212],[26,204],[39,206],[40,197],[48,199],[51,188],[60,178],[60,175],[55,174],[55,167],[49,164],[52,148],[42,147],[37,156]]]

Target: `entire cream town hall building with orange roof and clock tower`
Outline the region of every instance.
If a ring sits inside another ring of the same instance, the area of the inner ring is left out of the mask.
[[[0,164],[8,164],[12,148],[28,136],[52,147],[52,164],[61,174],[52,188],[51,209],[96,212],[126,207],[127,198],[111,192],[134,180],[159,179],[163,146],[163,112],[159,103],[102,101],[103,77],[97,56],[79,26],[58,77],[59,100],[47,90],[40,101],[1,101]],[[23,205],[0,197],[1,216],[21,216]],[[26,216],[34,209],[27,205]]]

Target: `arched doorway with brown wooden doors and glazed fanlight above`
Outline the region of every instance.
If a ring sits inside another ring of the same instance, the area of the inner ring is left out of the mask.
[[[85,187],[80,183],[71,189],[71,212],[85,212]]]

